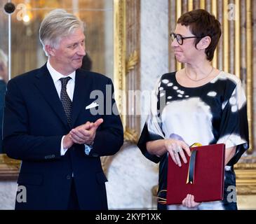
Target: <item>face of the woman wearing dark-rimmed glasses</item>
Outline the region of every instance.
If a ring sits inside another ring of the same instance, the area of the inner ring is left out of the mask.
[[[182,37],[195,36],[194,34],[191,34],[189,26],[186,27],[180,24],[177,24],[174,33],[180,34]],[[196,49],[194,41],[195,38],[183,39],[183,43],[180,45],[175,38],[171,46],[174,49],[174,54],[178,62],[191,63],[198,57],[199,50]]]

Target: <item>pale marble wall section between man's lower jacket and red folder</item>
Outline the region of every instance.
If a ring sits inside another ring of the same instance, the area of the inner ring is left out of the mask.
[[[133,145],[125,146],[112,161],[106,183],[109,209],[156,209],[151,188],[158,168]]]

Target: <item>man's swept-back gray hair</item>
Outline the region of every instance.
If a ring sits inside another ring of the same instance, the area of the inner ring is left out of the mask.
[[[72,13],[67,13],[63,9],[50,11],[41,22],[39,29],[43,50],[46,52],[45,45],[58,48],[61,38],[72,34],[72,31],[77,28],[84,30],[83,22]]]

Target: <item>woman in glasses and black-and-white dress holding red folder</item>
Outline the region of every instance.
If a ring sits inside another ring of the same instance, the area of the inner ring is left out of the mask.
[[[191,10],[177,20],[170,35],[184,69],[159,79],[137,146],[149,160],[160,162],[158,196],[164,200],[168,156],[182,166],[191,144],[225,144],[224,199],[198,203],[194,195],[187,195],[182,205],[158,203],[158,208],[237,209],[229,193],[234,189],[230,186],[236,186],[234,164],[248,149],[248,121],[241,80],[211,64],[221,36],[220,22],[206,10]]]

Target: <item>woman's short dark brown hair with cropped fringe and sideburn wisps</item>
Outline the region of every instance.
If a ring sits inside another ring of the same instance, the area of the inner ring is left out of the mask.
[[[206,56],[208,61],[212,61],[217,43],[222,35],[220,22],[215,16],[208,13],[207,10],[195,9],[184,13],[177,20],[177,23],[182,26],[189,26],[191,33],[195,36],[210,36],[211,42],[208,48],[206,48]],[[201,41],[201,38],[196,38],[195,46],[199,41]]]

